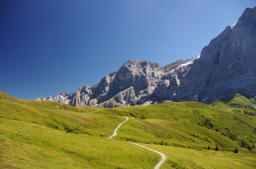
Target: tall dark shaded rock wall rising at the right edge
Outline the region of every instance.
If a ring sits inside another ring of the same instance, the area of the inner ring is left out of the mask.
[[[237,23],[211,40],[180,81],[174,101],[211,104],[236,93],[256,95],[256,7],[246,8]]]

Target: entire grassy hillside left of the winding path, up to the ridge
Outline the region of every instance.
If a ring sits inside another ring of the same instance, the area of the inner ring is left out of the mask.
[[[81,113],[63,104],[71,110],[67,111],[54,107],[59,103],[7,99],[1,94],[5,96],[0,98],[1,167],[153,168],[161,158],[104,138],[113,134],[123,117]]]

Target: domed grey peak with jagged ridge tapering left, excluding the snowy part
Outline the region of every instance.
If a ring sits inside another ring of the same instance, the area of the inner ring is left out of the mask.
[[[53,101],[71,106],[135,106],[152,98],[157,80],[164,73],[158,63],[130,60],[117,72],[108,73],[99,84],[82,86],[76,93],[69,95],[61,93]]]

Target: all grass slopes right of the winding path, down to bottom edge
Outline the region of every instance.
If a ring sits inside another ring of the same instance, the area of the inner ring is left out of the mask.
[[[162,168],[256,166],[255,149],[249,151],[240,142],[244,139],[250,145],[256,143],[254,116],[198,102],[164,102],[144,107],[105,108],[95,113],[130,116],[130,120],[120,127],[115,139],[146,143],[146,147],[165,152],[169,161],[167,159]],[[236,136],[239,141],[233,141],[230,135]],[[162,141],[164,144],[167,142],[168,146],[159,145]],[[209,145],[211,151],[207,150]],[[219,151],[213,150],[216,145],[219,146]],[[240,150],[239,155],[233,153],[236,147]],[[180,154],[179,158],[177,154]],[[194,158],[190,158],[191,156]]]

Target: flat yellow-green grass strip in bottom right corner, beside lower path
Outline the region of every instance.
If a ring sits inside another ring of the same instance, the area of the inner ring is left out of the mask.
[[[161,169],[170,168],[255,168],[256,157],[243,152],[233,153],[227,151],[202,150],[193,148],[178,148],[172,146],[159,146],[143,144],[166,155],[166,161]]]

